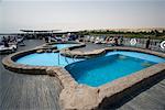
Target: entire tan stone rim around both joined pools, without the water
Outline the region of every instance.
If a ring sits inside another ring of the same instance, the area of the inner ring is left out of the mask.
[[[87,85],[78,84],[72,75],[64,68],[58,66],[29,66],[23,64],[14,63],[14,58],[22,57],[23,55],[28,55],[41,50],[43,46],[23,51],[19,53],[14,53],[12,55],[3,58],[2,64],[7,69],[12,72],[22,73],[22,74],[34,74],[34,75],[50,75],[55,76],[59,79],[63,90],[59,95],[59,102],[62,109],[100,109],[106,105],[113,103],[120,100],[123,96],[129,95],[129,92],[134,91],[140,88],[144,84],[150,84],[155,80],[157,77],[165,76],[165,63],[160,63],[142,69],[140,72],[133,73],[129,76],[121,77],[111,82],[105,84],[99,87],[89,87]],[[81,47],[79,45],[78,47]],[[74,47],[73,47],[74,48]],[[77,48],[77,47],[75,47]],[[66,55],[67,51],[72,48],[62,50],[61,53]],[[133,51],[133,52],[142,52],[146,54],[156,55],[160,57],[165,57],[164,53],[153,52],[150,50],[136,48],[136,47],[105,47],[98,51],[89,52],[89,53],[76,53],[80,57],[89,57],[95,55],[100,55],[102,53],[107,53],[109,51]],[[66,52],[66,53],[65,53]],[[75,53],[72,51],[68,55],[73,57]],[[69,100],[69,101],[68,101]]]

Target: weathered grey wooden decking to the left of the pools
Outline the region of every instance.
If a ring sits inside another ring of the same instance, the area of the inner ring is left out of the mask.
[[[29,40],[25,44],[19,46],[18,51],[38,46],[43,42]],[[0,63],[0,110],[59,110],[61,90],[61,84],[55,77],[12,73]]]

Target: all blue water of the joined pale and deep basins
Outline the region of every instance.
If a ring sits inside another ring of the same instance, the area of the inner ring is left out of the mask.
[[[98,87],[154,64],[165,63],[165,58],[123,51],[109,52],[105,56],[90,59],[73,59],[58,53],[34,53],[19,58],[16,63],[34,66],[62,66],[77,82]]]

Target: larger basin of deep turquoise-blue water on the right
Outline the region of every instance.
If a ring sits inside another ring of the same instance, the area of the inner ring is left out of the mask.
[[[103,57],[70,64],[65,68],[79,84],[98,87],[165,59],[136,52],[110,52]]]

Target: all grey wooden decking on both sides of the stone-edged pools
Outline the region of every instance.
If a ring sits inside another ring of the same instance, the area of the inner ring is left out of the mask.
[[[26,46],[19,47],[19,51],[42,43],[38,40],[25,41]],[[15,74],[0,63],[0,110],[59,110],[61,90],[55,77]],[[165,110],[165,79],[128,96],[112,109]]]

